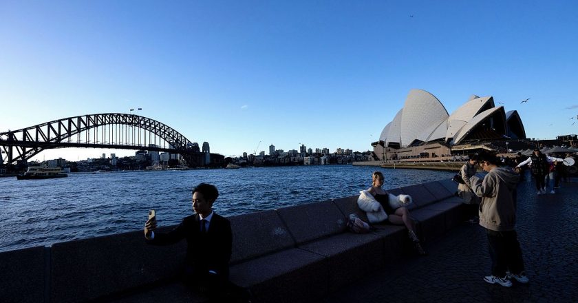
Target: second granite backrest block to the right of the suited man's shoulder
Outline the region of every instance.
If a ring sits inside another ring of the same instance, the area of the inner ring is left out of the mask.
[[[283,207],[277,213],[298,245],[346,229],[347,220],[332,201]]]

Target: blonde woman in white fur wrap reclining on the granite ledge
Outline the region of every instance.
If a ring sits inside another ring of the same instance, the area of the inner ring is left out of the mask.
[[[367,191],[360,191],[357,205],[367,213],[367,219],[370,223],[384,222],[388,220],[392,224],[407,227],[409,238],[414,241],[414,247],[420,255],[425,255],[421,247],[420,240],[416,236],[416,226],[414,221],[409,218],[409,211],[404,205],[411,204],[411,196],[399,195],[394,196],[381,189],[383,186],[383,174],[381,171],[374,171],[372,174],[372,187]]]

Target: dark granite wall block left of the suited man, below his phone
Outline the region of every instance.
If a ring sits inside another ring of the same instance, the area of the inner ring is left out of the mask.
[[[185,252],[184,240],[153,246],[144,242],[142,231],[54,244],[52,302],[96,300],[173,278],[184,266]]]

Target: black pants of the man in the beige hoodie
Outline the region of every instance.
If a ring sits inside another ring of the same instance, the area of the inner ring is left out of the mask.
[[[488,251],[492,260],[492,275],[504,278],[506,271],[520,274],[524,271],[522,249],[516,231],[492,231],[486,229]]]

